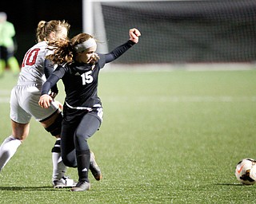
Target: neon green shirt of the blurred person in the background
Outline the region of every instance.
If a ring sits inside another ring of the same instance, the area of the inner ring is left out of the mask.
[[[0,46],[6,48],[14,47],[13,38],[15,35],[14,25],[11,22],[0,23]]]

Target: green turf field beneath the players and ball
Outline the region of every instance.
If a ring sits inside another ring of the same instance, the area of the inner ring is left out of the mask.
[[[0,79],[1,143],[15,80]],[[32,120],[0,175],[1,203],[255,203],[256,185],[234,176],[240,159],[256,159],[255,91],[256,70],[102,72],[104,120],[89,140],[102,181],[90,175],[90,191],[54,190],[54,138]],[[77,179],[75,169],[68,175]]]

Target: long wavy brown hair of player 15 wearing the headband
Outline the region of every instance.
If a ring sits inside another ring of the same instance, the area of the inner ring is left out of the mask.
[[[94,38],[90,34],[80,33],[74,36],[71,40],[66,41],[50,41],[48,45],[54,48],[54,54],[47,56],[55,64],[71,64],[74,62],[76,51],[74,47],[90,38]]]

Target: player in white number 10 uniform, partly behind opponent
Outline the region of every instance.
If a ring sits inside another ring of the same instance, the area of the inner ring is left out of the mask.
[[[22,61],[22,70],[18,77],[18,84],[12,89],[10,96],[10,119],[12,135],[7,137],[0,147],[0,171],[15,154],[22,141],[26,139],[30,131],[30,120],[34,117],[46,131],[54,135],[57,140],[52,149],[53,159],[53,186],[74,186],[74,180],[65,176],[66,166],[62,162],[60,148],[60,132],[62,129],[62,105],[53,103],[50,108],[43,109],[38,105],[42,84],[45,82],[45,68],[48,75],[53,72],[53,65],[46,61],[48,41],[66,39],[70,25],[65,21],[41,21],[38,23],[37,40],[27,52]],[[51,96],[58,94],[58,88],[51,89]],[[96,173],[100,174],[97,164],[92,158]],[[94,168],[93,168],[94,169]],[[95,172],[94,177],[99,176]],[[98,179],[98,177],[95,179]]]

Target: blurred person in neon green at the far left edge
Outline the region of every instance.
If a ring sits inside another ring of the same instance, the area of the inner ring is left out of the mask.
[[[0,77],[3,76],[6,66],[18,75],[20,68],[14,52],[17,49],[15,42],[15,29],[11,22],[7,21],[5,12],[0,12]]]

